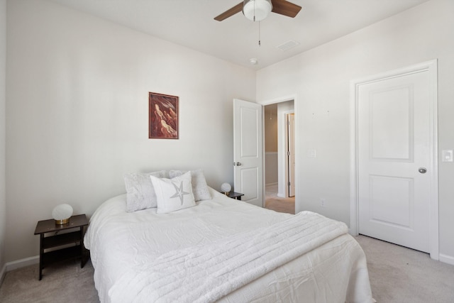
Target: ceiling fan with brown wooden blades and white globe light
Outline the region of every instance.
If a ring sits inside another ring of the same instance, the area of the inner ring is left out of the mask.
[[[286,0],[244,0],[231,9],[224,11],[219,16],[216,16],[214,20],[223,21],[240,11],[243,11],[244,16],[252,21],[265,19],[271,11],[294,18],[300,10],[301,6],[292,4]]]

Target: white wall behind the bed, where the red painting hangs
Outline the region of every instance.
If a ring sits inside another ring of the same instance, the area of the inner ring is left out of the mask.
[[[91,215],[125,172],[233,183],[232,100],[255,99],[253,70],[42,0],[8,1],[7,54],[6,261],[38,255],[55,205]],[[179,140],[148,139],[148,92],[179,97]]]

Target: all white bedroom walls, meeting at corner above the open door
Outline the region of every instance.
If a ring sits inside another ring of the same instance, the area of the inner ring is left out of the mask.
[[[234,98],[297,95],[299,126],[310,129],[297,150],[314,145],[320,155],[297,162],[297,211],[346,223],[351,79],[438,59],[438,149],[454,146],[453,1],[427,1],[258,71],[50,1],[1,3],[2,275],[7,263],[36,263],[36,221],[63,202],[92,214],[124,191],[123,172],[202,168],[214,188],[231,182]],[[179,96],[178,141],[148,139],[148,92]],[[440,260],[454,264],[453,163],[440,160],[438,172]]]

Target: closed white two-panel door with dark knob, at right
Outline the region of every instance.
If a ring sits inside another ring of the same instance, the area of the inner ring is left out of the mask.
[[[430,252],[431,87],[427,70],[358,88],[358,231]]]

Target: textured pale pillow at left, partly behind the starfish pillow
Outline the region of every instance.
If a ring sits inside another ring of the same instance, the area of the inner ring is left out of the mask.
[[[157,198],[150,176],[164,177],[165,171],[125,174],[126,211],[139,211],[157,206]]]

